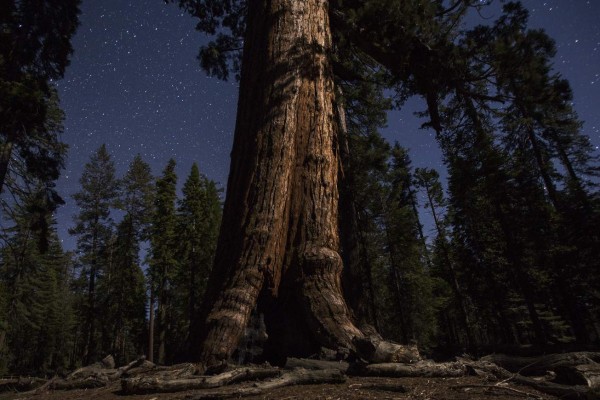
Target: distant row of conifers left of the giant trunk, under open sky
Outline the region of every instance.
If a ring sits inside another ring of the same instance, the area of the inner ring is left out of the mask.
[[[106,354],[123,363],[148,354],[149,345],[161,363],[182,357],[212,263],[221,200],[196,164],[177,199],[174,169],[171,160],[154,178],[138,155],[117,178],[100,147],[73,195],[75,252],[63,251],[51,216],[39,223],[39,192],[18,199],[0,254],[0,373],[54,374]]]

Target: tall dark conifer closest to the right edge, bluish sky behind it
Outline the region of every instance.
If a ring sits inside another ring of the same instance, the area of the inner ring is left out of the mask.
[[[483,53],[480,59],[487,60],[496,93],[506,103],[497,114],[498,131],[502,151],[510,156],[505,159],[503,189],[494,194],[502,205],[493,215],[506,241],[513,286],[521,286],[511,290],[526,303],[537,340],[554,336],[540,320],[536,301],[550,296],[583,343],[594,325],[584,306],[590,300],[583,298],[593,297],[587,283],[596,275],[593,260],[598,259],[598,246],[593,244],[597,236],[587,233],[597,214],[584,189],[587,185],[581,185],[594,173],[592,149],[579,131],[568,83],[552,71],[554,42],[541,30],[527,29],[528,13],[519,3],[506,4],[504,12],[493,27],[479,27],[470,38],[472,48]],[[579,173],[572,168],[574,160]],[[549,281],[555,282],[554,290],[544,293],[540,285]],[[565,282],[572,288],[565,290]],[[574,292],[582,296],[571,295]]]

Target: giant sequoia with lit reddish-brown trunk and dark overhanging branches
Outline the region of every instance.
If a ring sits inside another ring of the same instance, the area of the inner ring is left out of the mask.
[[[436,21],[460,15],[469,2],[457,2],[452,10],[444,10],[440,2],[374,2],[375,7],[324,0],[178,3],[200,19],[200,30],[221,32],[201,51],[205,69],[225,78],[230,66],[235,70],[241,65],[223,228],[196,356],[206,365],[228,358],[257,306],[265,313],[270,334],[266,353],[272,358],[312,354],[321,346],[362,352],[365,334],[353,323],[340,279],[340,108],[335,104],[330,17],[336,20],[338,42],[353,43],[346,48],[368,52],[404,78],[410,68],[423,71],[418,61],[430,49],[424,42],[438,41],[432,32],[445,35]],[[355,13],[343,12],[353,8]],[[414,65],[392,65],[400,59],[382,50],[379,35],[365,42],[364,34],[375,35],[381,28],[373,24],[379,17],[385,17],[387,38],[398,44],[394,51],[406,53]],[[392,33],[403,23],[405,30]],[[223,28],[231,35],[223,34]],[[417,35],[421,37],[415,39]],[[240,58],[236,48],[242,44]],[[352,51],[346,57],[352,58]],[[421,61],[427,67],[439,65]],[[435,99],[424,82],[418,77],[413,89],[429,96],[433,111]],[[399,346],[389,353],[392,359],[414,357]]]

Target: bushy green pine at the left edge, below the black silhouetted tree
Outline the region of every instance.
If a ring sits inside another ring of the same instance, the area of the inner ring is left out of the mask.
[[[43,191],[43,185],[38,186]],[[12,217],[10,236],[1,250],[0,293],[5,296],[0,354],[12,373],[66,371],[73,346],[75,315],[69,291],[71,259],[60,245],[55,222],[47,221],[47,246],[39,246],[38,192],[27,194]],[[49,217],[47,217],[49,218]]]

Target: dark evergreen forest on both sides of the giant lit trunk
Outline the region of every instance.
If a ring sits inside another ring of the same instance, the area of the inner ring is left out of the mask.
[[[215,35],[200,67],[243,85],[247,2],[166,3]],[[464,19],[485,2],[328,3],[336,232],[353,323],[437,360],[597,349],[600,158],[553,67],[552,38],[528,27],[517,1],[469,27]],[[109,354],[117,365],[140,355],[160,365],[193,359],[207,304],[226,281],[213,266],[234,225],[221,222],[224,204],[234,205],[198,164],[178,177],[171,159],[155,174],[132,154],[119,176],[102,145],[81,166],[78,190],[57,192],[69,149],[54,82],[68,68],[79,7],[0,6],[0,375],[66,374]],[[388,111],[412,97],[425,100],[419,117],[443,171],[414,168],[401,139],[381,133]],[[73,251],[55,219],[66,201],[78,210]],[[258,206],[237,207],[242,215]],[[250,307],[250,323],[270,338],[289,334],[263,316],[269,301]],[[262,346],[250,331],[242,342]],[[278,359],[273,348],[264,358]],[[262,349],[247,350],[230,356],[264,360]]]

